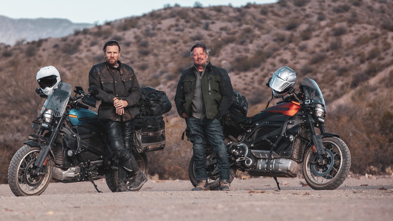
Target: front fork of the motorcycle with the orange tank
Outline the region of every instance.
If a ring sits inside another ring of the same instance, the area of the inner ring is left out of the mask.
[[[317,163],[319,165],[323,165],[325,164],[325,160],[323,160],[323,156],[326,154],[325,148],[323,147],[322,144],[323,135],[316,135],[314,129],[314,120],[312,119],[309,113],[306,114],[305,118],[306,118],[305,120],[307,126],[309,127],[311,140],[313,143],[312,150],[317,155],[316,162],[311,162],[311,163]],[[321,133],[323,133],[325,131],[325,127],[323,126],[321,130],[322,130]]]

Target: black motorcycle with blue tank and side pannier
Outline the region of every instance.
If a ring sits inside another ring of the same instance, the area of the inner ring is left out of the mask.
[[[103,124],[97,121],[97,114],[83,104],[95,107],[96,99],[91,95],[97,94],[98,90],[89,88],[90,93],[85,94],[81,87],[75,88],[75,96],[70,97],[71,85],[60,83],[48,96],[40,116],[33,120],[32,128],[38,130],[37,134],[30,135],[13,156],[8,169],[8,183],[16,196],[40,195],[50,179],[63,183],[90,181],[94,184],[94,180],[101,176],[105,176],[108,188],[116,192],[118,160],[109,148],[110,142]],[[40,88],[36,92],[42,96]],[[150,126],[148,130],[154,131],[153,135],[144,130],[136,130],[136,152],[132,154],[147,174],[149,166],[145,152],[163,149],[165,131],[163,125]],[[154,144],[145,143],[146,138]],[[160,141],[157,142],[156,138]],[[94,187],[100,192],[95,184]]]

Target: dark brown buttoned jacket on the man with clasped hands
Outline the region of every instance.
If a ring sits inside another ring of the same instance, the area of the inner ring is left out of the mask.
[[[134,70],[120,61],[118,64],[116,68],[107,62],[95,64],[89,72],[89,87],[93,86],[99,91],[95,98],[101,100],[101,105],[98,107],[100,121],[127,121],[139,116],[135,104],[139,101],[141,89]],[[116,114],[113,105],[115,97],[128,102],[122,116]]]

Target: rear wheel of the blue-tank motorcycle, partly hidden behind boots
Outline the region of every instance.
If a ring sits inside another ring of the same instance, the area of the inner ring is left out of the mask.
[[[135,157],[136,162],[138,163],[139,167],[147,175],[149,170],[149,164],[147,161],[147,156],[145,153],[132,153]],[[124,171],[124,170],[121,170]],[[110,191],[116,192],[118,188],[118,181],[119,181],[119,170],[110,170],[105,173],[105,180],[107,181],[107,185]],[[134,191],[134,190],[133,190]]]

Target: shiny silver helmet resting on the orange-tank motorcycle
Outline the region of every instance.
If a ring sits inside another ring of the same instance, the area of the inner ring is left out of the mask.
[[[291,68],[283,66],[276,70],[270,80],[269,87],[273,90],[275,98],[282,98],[287,94],[292,94],[295,90],[296,73]]]

